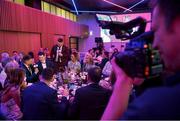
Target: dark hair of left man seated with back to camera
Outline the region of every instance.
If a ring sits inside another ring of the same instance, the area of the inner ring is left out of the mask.
[[[41,76],[45,80],[51,80],[53,78],[54,71],[52,68],[46,68],[42,71]]]

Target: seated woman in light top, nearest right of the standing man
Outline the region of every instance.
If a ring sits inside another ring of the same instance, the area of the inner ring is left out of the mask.
[[[71,72],[80,72],[81,70],[81,64],[78,61],[78,53],[73,52],[71,54],[71,60],[68,62],[68,70]]]

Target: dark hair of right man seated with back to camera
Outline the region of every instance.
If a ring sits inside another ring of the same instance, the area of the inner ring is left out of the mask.
[[[94,83],[99,83],[102,76],[102,70],[98,66],[94,66],[88,70],[88,77]]]

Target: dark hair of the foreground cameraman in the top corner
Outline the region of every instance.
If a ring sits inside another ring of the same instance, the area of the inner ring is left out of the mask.
[[[151,6],[159,7],[165,17],[166,27],[169,28],[172,22],[180,17],[180,0],[151,0]]]

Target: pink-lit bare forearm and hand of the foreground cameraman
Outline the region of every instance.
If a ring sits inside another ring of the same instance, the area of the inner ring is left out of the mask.
[[[116,76],[116,82],[101,120],[118,120],[122,117],[127,109],[129,95],[133,87],[133,79],[116,64],[115,58],[112,59],[111,64]]]

